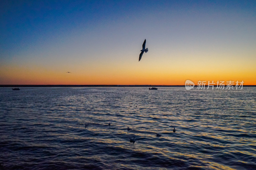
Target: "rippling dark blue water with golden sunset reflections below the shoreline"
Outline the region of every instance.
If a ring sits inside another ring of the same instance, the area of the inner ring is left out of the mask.
[[[20,89],[0,88],[4,169],[256,169],[256,87]]]

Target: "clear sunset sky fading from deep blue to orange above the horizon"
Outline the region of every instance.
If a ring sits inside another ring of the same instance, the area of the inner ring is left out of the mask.
[[[256,85],[255,75],[255,0],[0,1],[1,85]]]

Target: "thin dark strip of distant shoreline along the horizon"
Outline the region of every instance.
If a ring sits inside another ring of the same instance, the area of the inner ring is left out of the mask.
[[[0,87],[185,87],[185,85],[0,85]],[[243,85],[243,87],[256,87],[256,85]]]

